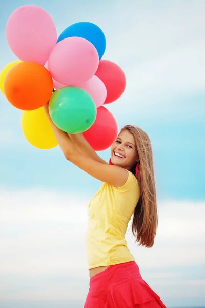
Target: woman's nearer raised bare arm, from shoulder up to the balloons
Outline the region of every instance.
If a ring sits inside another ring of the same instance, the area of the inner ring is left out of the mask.
[[[101,163],[79,151],[68,134],[60,130],[53,123],[48,112],[48,106],[45,106],[44,108],[57,142],[67,160],[101,182],[109,183],[115,187],[120,187],[126,183],[128,179],[128,171],[126,169]]]

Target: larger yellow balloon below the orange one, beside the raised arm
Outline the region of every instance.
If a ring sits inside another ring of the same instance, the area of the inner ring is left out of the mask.
[[[23,111],[22,130],[27,141],[38,149],[52,149],[58,145],[44,107]]]

